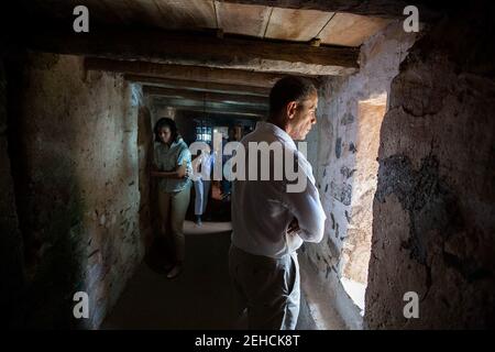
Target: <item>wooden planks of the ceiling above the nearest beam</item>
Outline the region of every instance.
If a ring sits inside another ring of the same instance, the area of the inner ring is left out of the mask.
[[[25,1],[25,0],[24,0]],[[344,12],[288,9],[219,0],[36,0],[38,10],[59,18],[77,4],[111,24],[141,24],[168,30],[222,30],[256,38],[356,47],[392,20]],[[397,13],[400,15],[400,13]],[[345,34],[343,34],[345,33]]]

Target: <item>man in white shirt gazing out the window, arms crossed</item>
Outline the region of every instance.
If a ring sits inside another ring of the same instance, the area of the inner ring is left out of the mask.
[[[296,250],[304,241],[318,243],[323,237],[326,216],[311,165],[294,143],[305,140],[316,123],[317,105],[317,89],[309,80],[285,77],[271,91],[267,121],[241,141],[248,179],[233,182],[229,267],[238,308],[248,308],[250,329],[295,329],[300,300]],[[250,146],[260,142],[279,144],[284,156],[294,156],[304,187],[290,191],[287,174],[274,177],[277,168],[285,170],[287,160],[282,157],[271,157],[268,180],[248,176],[253,168]]]

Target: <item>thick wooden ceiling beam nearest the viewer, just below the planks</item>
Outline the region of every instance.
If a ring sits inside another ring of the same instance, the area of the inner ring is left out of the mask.
[[[300,75],[348,75],[359,68],[359,48],[311,46],[261,38],[219,38],[161,30],[40,30],[25,38],[31,50],[56,54],[196,65]]]

